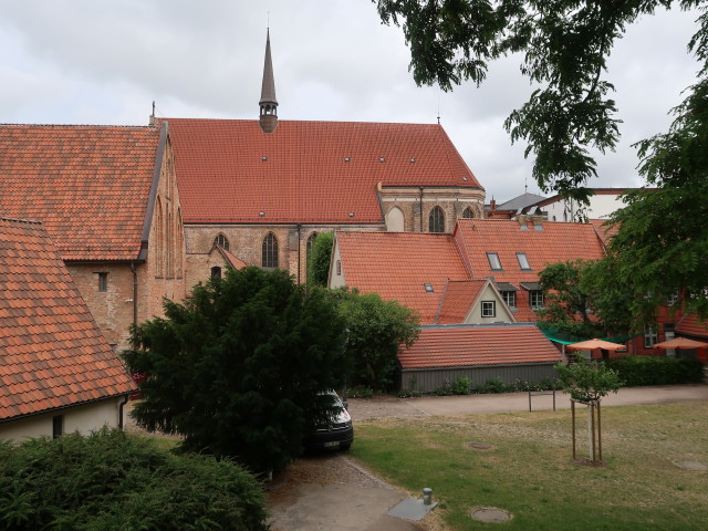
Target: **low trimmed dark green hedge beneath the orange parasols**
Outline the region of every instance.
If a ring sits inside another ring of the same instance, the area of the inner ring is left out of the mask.
[[[626,356],[605,362],[620,373],[624,385],[699,384],[704,365],[698,360],[654,356]]]

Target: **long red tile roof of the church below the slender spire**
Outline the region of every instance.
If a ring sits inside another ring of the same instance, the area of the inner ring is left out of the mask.
[[[186,223],[382,223],[378,183],[482,189],[439,125],[165,121]]]

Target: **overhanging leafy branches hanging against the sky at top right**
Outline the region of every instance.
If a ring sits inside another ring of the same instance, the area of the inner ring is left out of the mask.
[[[620,136],[617,108],[606,79],[614,42],[638,18],[657,8],[689,9],[700,0],[374,0],[385,23],[403,27],[418,84],[449,91],[465,80],[479,84],[491,61],[519,53],[521,72],[534,90],[504,126],[512,142],[528,143],[533,177],[543,191],[587,202],[596,175],[589,148],[613,149]],[[689,48],[708,56],[708,20]],[[705,73],[705,72],[704,72]],[[705,168],[705,166],[704,166]]]

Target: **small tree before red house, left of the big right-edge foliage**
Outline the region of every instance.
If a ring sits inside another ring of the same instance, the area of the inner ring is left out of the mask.
[[[636,327],[635,291],[616,282],[611,259],[553,263],[539,280],[545,292],[541,321],[569,337],[620,335]]]

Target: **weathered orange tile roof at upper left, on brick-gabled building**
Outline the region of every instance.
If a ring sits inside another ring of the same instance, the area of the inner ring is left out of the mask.
[[[134,260],[157,127],[0,126],[0,216],[43,222],[64,260]]]

